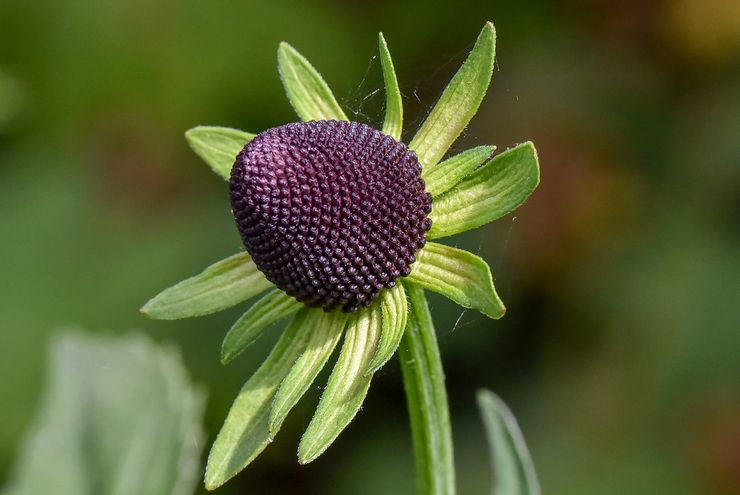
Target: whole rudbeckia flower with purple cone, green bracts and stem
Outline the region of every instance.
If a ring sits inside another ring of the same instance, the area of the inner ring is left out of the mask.
[[[316,69],[281,43],[280,79],[302,122],[258,135],[223,127],[186,133],[193,150],[229,181],[246,250],[163,291],[142,312],[187,318],[261,296],[227,333],[224,364],[291,318],[215,440],[209,489],[270,443],[342,341],[300,441],[299,462],[311,462],[337,438],[360,409],[373,374],[398,350],[419,485],[454,490],[444,376],[424,291],[494,319],[505,309],[485,261],[436,241],[522,204],[539,182],[537,155],[527,142],[498,155],[486,145],[445,158],[490,82],[491,23],[408,145],[382,34],[379,45],[387,97],[381,130],[349,122]]]

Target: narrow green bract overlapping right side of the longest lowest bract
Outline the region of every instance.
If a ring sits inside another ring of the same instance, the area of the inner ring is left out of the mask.
[[[325,313],[315,309],[306,318],[303,331],[309,334],[308,344],[275,395],[270,411],[270,432],[280,429],[290,410],[323,369],[337,346],[346,323],[347,315],[340,311]]]

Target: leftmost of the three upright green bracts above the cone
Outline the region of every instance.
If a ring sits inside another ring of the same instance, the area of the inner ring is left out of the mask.
[[[301,120],[349,120],[313,65],[286,42],[278,48],[278,72]]]

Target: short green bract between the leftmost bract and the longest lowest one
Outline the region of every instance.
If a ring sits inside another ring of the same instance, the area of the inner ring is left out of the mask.
[[[280,289],[273,289],[236,320],[221,345],[221,363],[227,364],[257,340],[262,332],[303,304]]]

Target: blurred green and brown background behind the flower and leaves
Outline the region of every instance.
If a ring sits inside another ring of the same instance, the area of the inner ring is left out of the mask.
[[[2,0],[0,485],[56,329],[140,328],[179,345],[209,390],[211,435],[274,340],[222,367],[220,341],[243,308],[138,314],[240,249],[226,184],[186,129],[296,120],[275,68],[281,40],[351,118],[379,123],[382,30],[410,137],[488,19],[492,86],[452,151],[532,139],[542,184],[513,216],[453,240],[491,263],[506,317],[431,299],[460,493],[488,492],[474,401],[484,386],[517,414],[546,494],[740,493],[737,0]],[[219,493],[412,492],[397,364],[300,467],[318,392]]]

